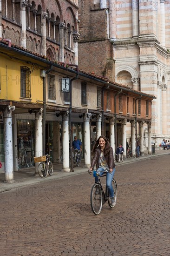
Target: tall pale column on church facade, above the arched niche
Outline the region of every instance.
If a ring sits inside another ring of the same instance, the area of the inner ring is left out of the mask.
[[[138,36],[139,35],[139,8],[138,8],[137,0],[132,0],[131,9],[132,9],[132,36]]]

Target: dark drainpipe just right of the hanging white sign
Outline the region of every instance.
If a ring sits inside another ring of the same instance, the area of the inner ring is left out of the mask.
[[[69,108],[69,139],[70,139],[70,159],[71,159],[71,172],[74,171],[73,162],[72,162],[72,122],[71,122],[71,114],[72,114],[72,81],[78,79],[78,74],[76,77],[70,80],[70,108]]]

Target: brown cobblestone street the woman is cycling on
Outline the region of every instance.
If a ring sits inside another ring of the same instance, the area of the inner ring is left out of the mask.
[[[88,173],[0,193],[0,255],[168,256],[169,163],[162,155],[117,166],[117,204],[98,216]]]

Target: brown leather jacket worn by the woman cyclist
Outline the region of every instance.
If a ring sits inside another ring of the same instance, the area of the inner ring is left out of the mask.
[[[96,164],[96,169],[98,169],[99,157],[100,157],[101,152],[102,152],[101,149],[99,147],[97,147],[94,152],[93,159],[92,159],[92,164],[91,164],[92,169],[94,169],[95,164]],[[110,151],[107,155],[105,155],[105,159],[106,159],[107,165],[110,169],[115,168],[116,165],[114,163],[113,148],[110,147]]]

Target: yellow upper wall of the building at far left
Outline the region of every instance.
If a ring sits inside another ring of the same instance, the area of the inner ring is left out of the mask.
[[[29,102],[36,103],[40,101],[42,103],[43,79],[40,77],[39,68],[34,70],[33,66],[26,62],[16,61],[4,56],[0,56],[0,99],[22,101],[20,99],[20,67],[22,66],[31,69],[31,101]]]

